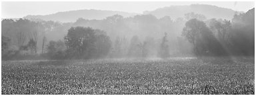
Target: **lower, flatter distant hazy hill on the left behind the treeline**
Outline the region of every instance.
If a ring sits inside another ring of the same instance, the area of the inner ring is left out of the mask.
[[[126,13],[122,11],[104,11],[95,9],[83,9],[77,11],[63,11],[53,13],[50,15],[27,15],[25,19],[42,19],[44,21],[60,21],[60,22],[75,22],[78,18],[83,19],[105,19],[111,15],[122,15],[123,17],[130,17],[137,15],[137,13]]]

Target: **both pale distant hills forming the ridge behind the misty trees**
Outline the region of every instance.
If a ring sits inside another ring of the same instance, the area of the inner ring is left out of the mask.
[[[228,19],[231,20],[235,13],[244,13],[233,11],[232,9],[227,9],[223,7],[217,7],[214,5],[171,5],[169,7],[163,7],[155,9],[154,11],[144,11],[143,14],[155,15],[157,18],[169,16],[171,19],[177,19],[179,17],[184,17],[186,13],[197,13],[205,15],[207,19]],[[95,10],[95,9],[82,9],[76,11],[63,11],[58,13],[53,13],[49,15],[27,15],[23,17],[24,19],[32,20],[44,20],[44,21],[60,21],[63,23],[75,22],[79,18],[83,19],[105,19],[106,17],[112,15],[122,15],[123,17],[132,17],[135,15],[140,15],[139,13],[127,13],[123,11],[106,11],[106,10]]]

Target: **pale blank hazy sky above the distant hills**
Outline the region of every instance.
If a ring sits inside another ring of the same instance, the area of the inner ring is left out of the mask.
[[[78,9],[101,9],[111,11],[125,11],[142,13],[160,7],[171,5],[208,4],[225,7],[235,11],[248,11],[254,7],[254,2],[1,2],[1,16],[3,18],[19,18],[26,15],[48,15],[59,11]]]

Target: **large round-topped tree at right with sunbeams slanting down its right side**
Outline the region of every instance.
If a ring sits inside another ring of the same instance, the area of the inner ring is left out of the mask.
[[[182,35],[193,44],[195,55],[225,55],[219,41],[203,21],[191,19],[185,23]]]

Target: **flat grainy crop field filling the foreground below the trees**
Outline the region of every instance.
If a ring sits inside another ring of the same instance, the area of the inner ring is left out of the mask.
[[[255,94],[254,57],[1,61],[5,94]]]

